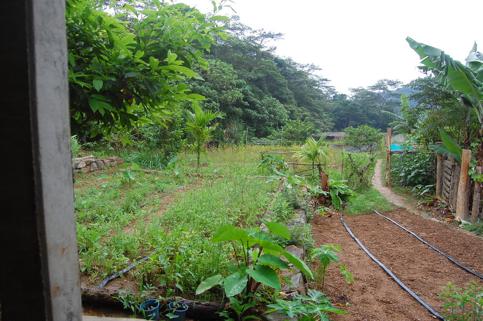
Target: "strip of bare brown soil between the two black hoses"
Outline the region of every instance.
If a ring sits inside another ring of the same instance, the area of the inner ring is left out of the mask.
[[[408,213],[408,215],[412,214]],[[379,216],[346,216],[345,219],[362,244],[436,311],[443,310],[443,300],[438,297],[438,294],[448,282],[462,284],[479,280],[478,276],[465,271],[413,235]],[[444,235],[440,234],[440,237],[444,239]],[[476,238],[475,241],[477,241]],[[483,246],[481,242],[480,246]],[[450,252],[449,255],[451,255]],[[475,270],[481,271],[481,266]]]

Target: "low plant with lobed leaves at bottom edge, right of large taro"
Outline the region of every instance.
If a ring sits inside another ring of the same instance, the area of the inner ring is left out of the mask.
[[[272,309],[266,313],[276,311],[289,318],[297,318],[302,321],[328,321],[330,319],[326,312],[347,314],[343,310],[335,308],[324,296],[324,293],[312,289],[308,290],[308,295],[297,294],[293,301],[276,299],[276,303],[267,306]]]

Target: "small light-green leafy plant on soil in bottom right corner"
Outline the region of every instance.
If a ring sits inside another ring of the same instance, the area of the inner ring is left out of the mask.
[[[483,287],[476,282],[466,286],[464,290],[449,282],[438,295],[446,300],[443,303],[445,310],[442,311],[442,314],[448,315],[445,320],[483,320]]]

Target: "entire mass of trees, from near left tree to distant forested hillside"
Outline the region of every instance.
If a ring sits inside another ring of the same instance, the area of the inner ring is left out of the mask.
[[[246,130],[279,139],[283,130],[300,142],[360,125],[385,130],[393,119],[382,111],[398,112],[401,82],[340,94],[323,65],[275,54],[281,33],[253,30],[219,15],[222,8],[202,14],[182,3],[68,1],[72,134],[173,145],[186,138],[186,117],[200,105],[225,113],[216,140],[238,144]]]

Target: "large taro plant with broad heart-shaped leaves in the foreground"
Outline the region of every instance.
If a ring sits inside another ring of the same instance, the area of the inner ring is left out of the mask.
[[[283,250],[271,238],[275,234],[285,239],[290,239],[290,232],[285,225],[262,220],[267,226],[269,234],[255,232],[251,229],[240,229],[233,225],[218,228],[211,242],[230,242],[235,262],[228,264],[230,275],[223,277],[221,274],[211,276],[203,281],[196,289],[196,294],[201,294],[207,289],[221,286],[225,295],[230,299],[231,307],[235,310],[238,320],[244,320],[253,316],[243,316],[256,302],[255,292],[260,286],[270,287],[276,290],[281,288],[277,271],[291,269],[280,256],[299,268],[308,278],[313,279],[310,268],[303,260]],[[236,246],[239,243],[239,247]],[[290,282],[286,277],[281,277],[285,282]]]

